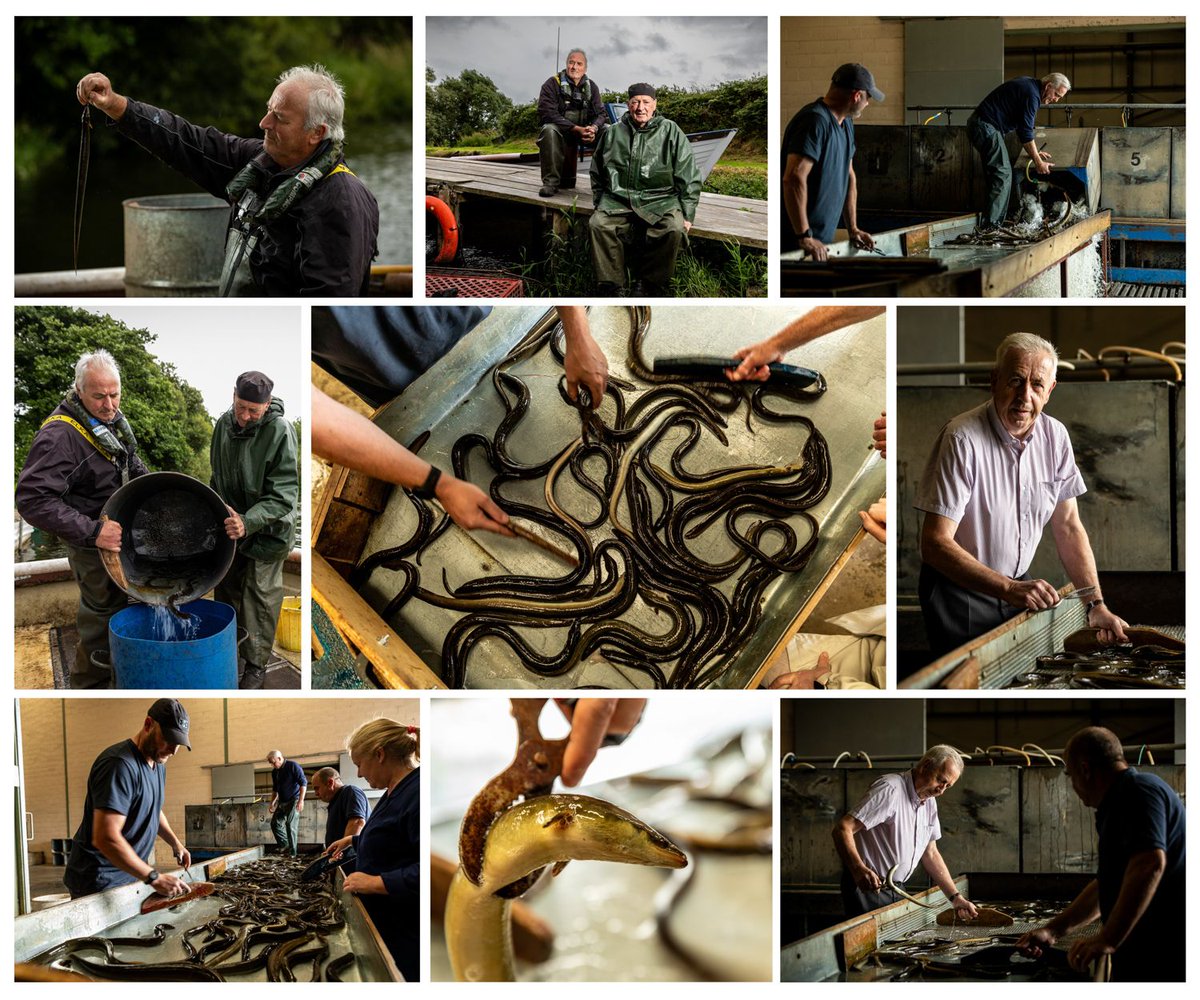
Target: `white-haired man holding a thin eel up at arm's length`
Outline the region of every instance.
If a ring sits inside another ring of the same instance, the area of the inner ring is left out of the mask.
[[[280,74],[262,139],[202,128],[113,90],[103,73],[76,85],[80,104],[232,211],[222,295],[365,295],[379,205],[346,166],[346,95],[324,66]]]

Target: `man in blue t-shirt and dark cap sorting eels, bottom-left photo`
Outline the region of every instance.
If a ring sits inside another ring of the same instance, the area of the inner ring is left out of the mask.
[[[128,739],[103,750],[88,774],[83,821],[71,842],[62,882],[71,897],[145,882],[161,896],[187,892],[175,875],[154,866],[154,844],[162,838],[184,868],[192,863],[162,810],[167,761],[180,747],[192,749],[187,712],[172,697],[160,697]]]

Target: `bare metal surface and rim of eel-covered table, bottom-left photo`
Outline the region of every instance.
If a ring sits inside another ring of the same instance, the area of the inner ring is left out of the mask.
[[[212,872],[215,876],[216,872],[221,870],[222,863],[226,868],[235,868],[262,857],[263,849],[252,848],[227,855],[217,862],[193,864],[188,869],[188,875],[192,881],[205,881],[210,880],[209,872]],[[341,885],[341,873],[337,873],[335,878]],[[29,962],[72,938],[150,936],[154,934],[156,924],[169,923],[174,929],[167,932],[167,940],[162,945],[155,948],[119,947],[115,950],[115,954],[126,962],[186,962],[188,954],[181,944],[184,932],[218,916],[218,910],[227,902],[214,893],[202,899],[193,899],[178,910],[164,909],[152,914],[143,914],[140,908],[148,893],[146,886],[134,882],[92,896],[83,896],[47,910],[18,916],[13,935],[13,958],[16,962]],[[347,952],[353,952],[355,956],[355,963],[341,974],[342,980],[347,982],[401,981],[400,970],[396,969],[391,954],[388,952],[388,946],[376,932],[362,903],[358,898],[346,897],[343,910],[344,927],[325,935],[331,959]],[[97,956],[89,952],[85,957],[96,958]],[[304,975],[302,971],[301,975]],[[265,971],[259,970],[244,976],[230,976],[229,982],[265,982]]]

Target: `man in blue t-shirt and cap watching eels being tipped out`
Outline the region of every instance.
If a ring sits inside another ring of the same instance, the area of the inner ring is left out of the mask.
[[[858,228],[854,176],[854,119],[871,101],[882,101],[875,77],[858,62],[839,66],[824,97],[800,108],[784,132],[782,247],[803,250],[815,261],[829,257],[838,223],[864,250],[875,240]]]

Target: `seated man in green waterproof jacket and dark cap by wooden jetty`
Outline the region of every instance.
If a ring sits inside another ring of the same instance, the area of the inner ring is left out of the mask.
[[[671,276],[700,204],[700,170],[691,143],[667,118],[655,115],[658,92],[629,88],[629,110],[604,131],[592,157],[588,226],[600,295],[625,289],[626,265],[646,295],[670,295]],[[640,246],[638,246],[640,245]],[[636,262],[629,251],[638,246]]]

